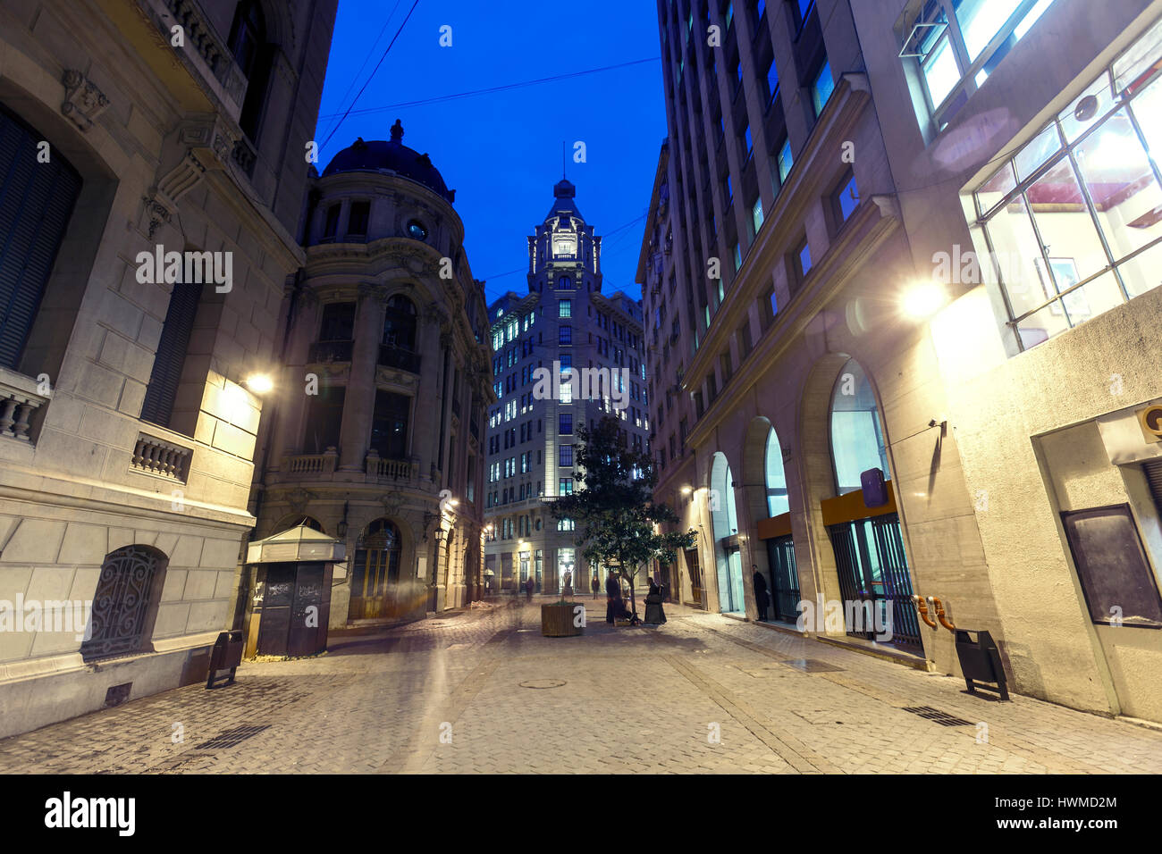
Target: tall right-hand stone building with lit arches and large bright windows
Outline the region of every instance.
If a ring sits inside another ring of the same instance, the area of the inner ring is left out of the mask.
[[[1011,688],[1162,719],[1160,15],[659,2],[684,601],[758,619],[753,565],[773,624],[949,674],[987,630]]]

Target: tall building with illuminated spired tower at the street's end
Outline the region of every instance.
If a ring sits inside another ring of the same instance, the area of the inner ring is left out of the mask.
[[[554,519],[547,505],[580,487],[578,429],[612,414],[627,444],[647,445],[641,302],[602,293],[601,237],[578,209],[572,182],[559,181],[553,195],[529,237],[529,293],[509,292],[489,307],[496,402],[488,415],[485,573],[492,591],[515,591],[530,577],[537,591],[560,593],[567,579],[588,591],[597,567],[581,557],[575,523]]]

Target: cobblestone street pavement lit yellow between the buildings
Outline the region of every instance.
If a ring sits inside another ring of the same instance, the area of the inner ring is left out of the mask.
[[[245,662],[0,740],[0,773],[1162,772],[1162,731],[686,608],[615,630],[583,602],[579,638],[522,602]]]

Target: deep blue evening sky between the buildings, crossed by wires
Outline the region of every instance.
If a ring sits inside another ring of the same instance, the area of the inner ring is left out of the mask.
[[[339,0],[316,131],[321,145],[411,2]],[[451,48],[439,45],[444,24],[452,27]],[[322,145],[318,170],[357,136],[387,139],[400,119],[403,144],[428,152],[456,189],[468,263],[476,279],[487,279],[492,302],[507,290],[528,292],[525,237],[550,209],[566,141],[568,178],[578,187],[586,221],[602,236],[632,222],[603,241],[603,289],[638,296],[633,279],[644,215],[666,135],[659,50],[657,12],[647,0],[419,0],[351,115]],[[650,62],[471,98],[392,106],[640,59]],[[578,139],[586,143],[587,163],[573,163]]]

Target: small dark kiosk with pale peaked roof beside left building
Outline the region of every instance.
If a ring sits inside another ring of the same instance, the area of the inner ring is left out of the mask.
[[[248,658],[317,655],[327,648],[331,579],[346,544],[299,525],[251,543],[246,565],[254,572],[246,626]]]

